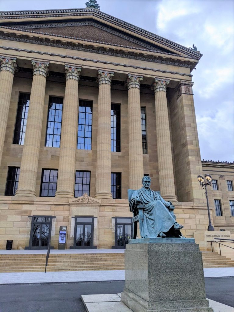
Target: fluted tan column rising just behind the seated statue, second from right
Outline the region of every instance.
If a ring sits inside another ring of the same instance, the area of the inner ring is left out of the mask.
[[[143,76],[128,75],[125,85],[128,88],[129,118],[129,186],[136,190],[142,187],[144,175],[141,133],[140,82]]]

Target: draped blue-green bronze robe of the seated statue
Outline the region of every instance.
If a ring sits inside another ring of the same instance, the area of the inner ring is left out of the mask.
[[[175,219],[169,212],[166,202],[158,193],[141,188],[136,190],[129,202],[130,211],[136,209],[135,199],[138,199],[145,206],[143,208],[144,222],[140,228],[141,237],[158,237],[160,232],[166,233],[175,224]],[[166,206],[165,206],[166,205]]]

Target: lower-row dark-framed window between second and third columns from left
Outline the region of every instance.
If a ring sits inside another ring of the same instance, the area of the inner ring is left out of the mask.
[[[57,188],[57,169],[42,169],[40,196],[54,197]]]

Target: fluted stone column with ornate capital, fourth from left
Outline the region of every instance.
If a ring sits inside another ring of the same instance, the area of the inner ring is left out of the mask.
[[[112,198],[111,194],[111,122],[110,84],[112,71],[98,71],[98,133],[97,133],[97,198]]]

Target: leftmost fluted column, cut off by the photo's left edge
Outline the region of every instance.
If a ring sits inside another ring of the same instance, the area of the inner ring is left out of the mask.
[[[0,56],[0,165],[16,67],[15,57]]]

